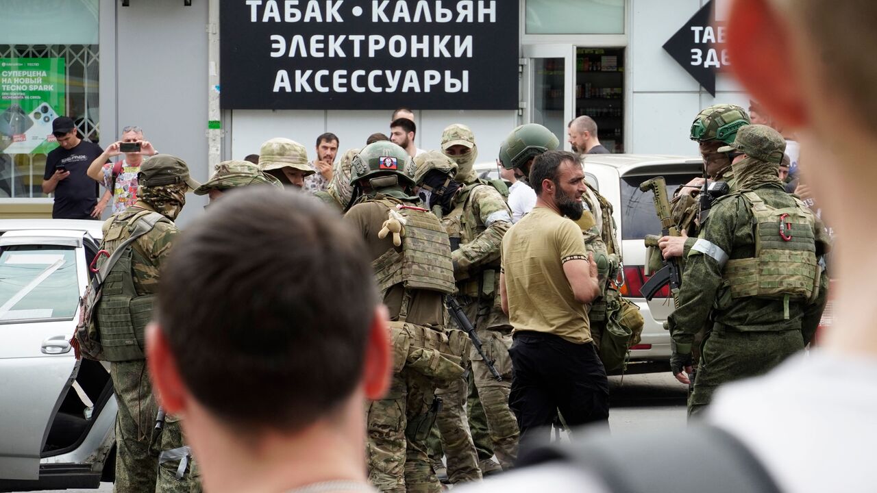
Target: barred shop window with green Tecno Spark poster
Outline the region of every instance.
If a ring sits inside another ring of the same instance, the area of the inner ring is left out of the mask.
[[[54,117],[73,118],[82,137],[97,142],[97,18],[98,0],[0,6],[0,198],[46,197]]]

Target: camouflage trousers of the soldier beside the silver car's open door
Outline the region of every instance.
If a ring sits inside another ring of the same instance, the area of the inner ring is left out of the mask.
[[[200,492],[194,461],[189,460],[182,479],[176,478],[180,461],[159,465],[161,451],[183,447],[182,428],[177,418],[168,416],[160,435],[153,436],[158,404],[146,361],[112,362],[110,376],[118,404],[113,491]]]

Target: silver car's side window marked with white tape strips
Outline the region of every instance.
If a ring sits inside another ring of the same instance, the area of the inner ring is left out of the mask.
[[[0,324],[68,320],[78,304],[74,247],[28,245],[0,251]]]

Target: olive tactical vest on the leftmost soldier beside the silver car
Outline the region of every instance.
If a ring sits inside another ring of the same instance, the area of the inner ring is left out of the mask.
[[[124,223],[111,219],[113,222],[105,236],[116,231],[119,233],[118,237],[104,239],[101,247],[110,253],[115,252],[116,248],[131,235],[135,223],[147,217],[151,219],[148,222],[152,223],[150,230],[157,222],[171,223],[168,218],[153,211],[138,212],[127,218]],[[122,231],[118,231],[119,228]],[[102,295],[96,305],[93,322],[100,335],[103,359],[106,361],[132,361],[146,358],[144,329],[153,315],[155,295],[137,294],[132,275],[132,264],[136,262],[146,262],[146,259],[134,251],[132,245],[128,245],[104,280]]]

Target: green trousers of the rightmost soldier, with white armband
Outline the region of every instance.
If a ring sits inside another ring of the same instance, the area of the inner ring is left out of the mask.
[[[716,389],[727,382],[766,374],[788,356],[804,348],[801,331],[736,332],[713,329],[704,339],[688,397],[688,418],[699,415]]]

